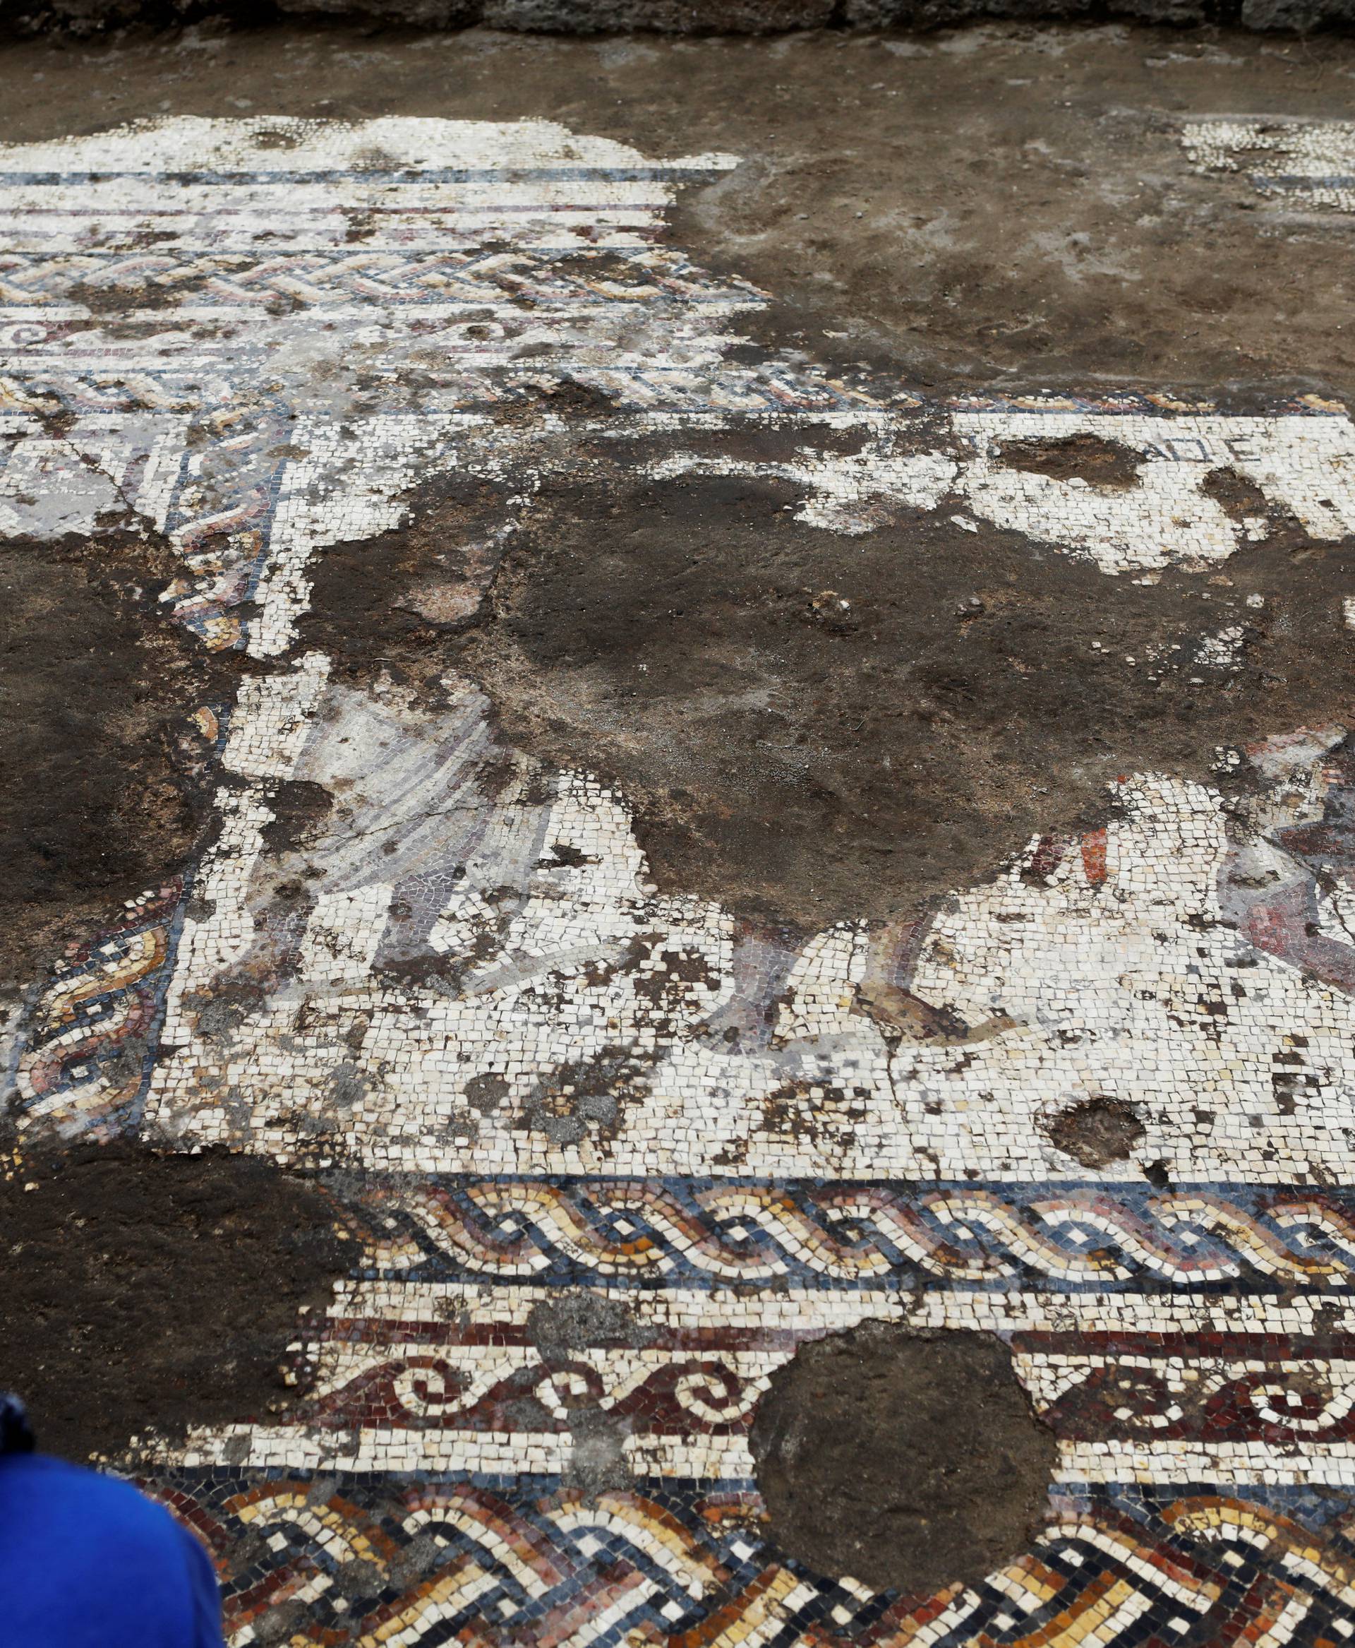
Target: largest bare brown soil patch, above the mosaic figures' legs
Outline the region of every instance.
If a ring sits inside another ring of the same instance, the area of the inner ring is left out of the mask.
[[[943,508],[845,537],[795,499],[601,463],[543,489],[481,625],[436,643],[512,743],[622,786],[665,890],[803,928],[912,915],[1121,773],[1218,781],[1218,745],[1355,689],[1348,542],[1281,522],[1223,585],[1143,587]],[[1235,671],[1199,659],[1227,625]]]

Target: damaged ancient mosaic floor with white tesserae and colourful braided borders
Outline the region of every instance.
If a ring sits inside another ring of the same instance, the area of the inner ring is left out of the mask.
[[[1355,582],[1324,714],[818,931],[660,887],[624,786],[515,745],[469,667],[403,667],[395,618],[387,656],[384,611],[346,654],[311,610],[326,554],[466,483],[402,610],[481,625],[552,485],[627,442],[825,539],[1021,534],[1106,608],[1194,580],[1194,633],[1128,662],[1220,694],[1268,618],[1230,569],[1343,565],[1340,407],[759,356],[761,295],[664,241],[731,165],[402,119],[0,150],[0,529],[156,536],[165,623],[242,669],[184,705],[196,860],[23,1004],[20,1137],[263,1155],[362,1243],[283,1414],[119,1463],[207,1543],[232,1648],[1343,1643]],[[1052,1432],[1044,1526],[981,1582],[775,1544],[757,1404],[864,1322],[996,1335]]]

